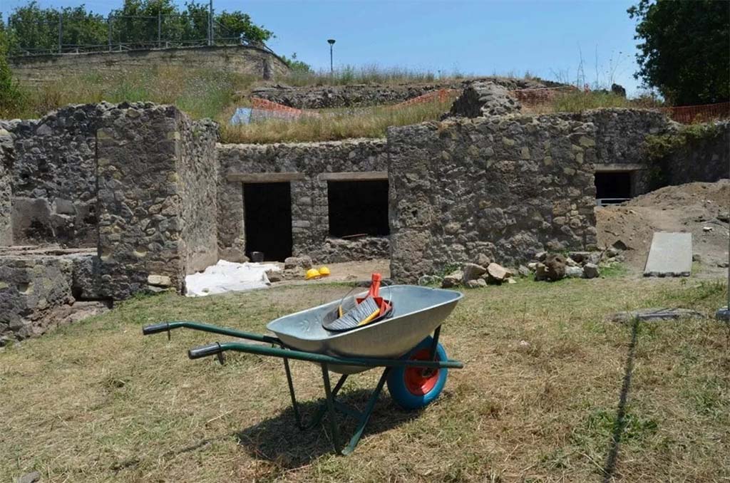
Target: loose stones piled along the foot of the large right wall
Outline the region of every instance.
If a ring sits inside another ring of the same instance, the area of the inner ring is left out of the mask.
[[[479,255],[474,263],[465,263],[461,270],[445,277],[425,275],[420,285],[441,285],[442,288],[478,288],[487,285],[517,283],[517,277],[534,277],[536,281],[554,282],[564,278],[594,279],[601,276],[601,268],[623,262],[626,246],[618,241],[607,250],[597,252],[569,252],[567,255],[539,252],[535,260],[518,268],[504,268],[487,256]]]

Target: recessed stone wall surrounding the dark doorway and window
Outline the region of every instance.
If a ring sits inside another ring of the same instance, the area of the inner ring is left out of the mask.
[[[385,171],[386,143],[377,139],[291,144],[219,144],[218,244],[220,258],[239,260],[245,250],[242,182],[231,174],[296,173],[291,181],[293,255],[316,262],[388,256],[387,239],[329,236],[326,174]]]

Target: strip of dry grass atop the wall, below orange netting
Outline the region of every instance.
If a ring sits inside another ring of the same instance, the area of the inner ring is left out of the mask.
[[[391,125],[409,125],[437,120],[451,102],[428,102],[408,107],[330,109],[322,117],[299,120],[267,120],[248,125],[222,125],[223,142],[267,144],[273,142],[334,141],[347,138],[380,138]]]

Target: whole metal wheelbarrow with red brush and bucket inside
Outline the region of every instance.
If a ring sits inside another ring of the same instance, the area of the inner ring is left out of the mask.
[[[266,328],[276,336],[187,321],[148,325],[142,329],[142,333],[167,332],[169,337],[172,329],[185,327],[263,342],[266,345],[215,342],[190,349],[188,357],[198,359],[218,355],[223,363],[223,352],[232,350],[282,358],[294,417],[300,429],[318,425],[327,414],[334,449],[339,451],[336,411],[358,421],[355,433],[341,451],[343,455],[348,455],[360,441],[386,382],[391,398],[399,406],[420,409],[439,396],[446,384],[448,369],[464,367],[458,360],[447,358],[444,348],[439,344],[442,322],[462,296],[453,290],[414,285],[380,287],[380,275],[373,274],[373,283],[367,293],[348,295],[345,299],[269,322]],[[361,306],[364,303],[368,305]],[[347,317],[347,314],[352,317]],[[328,327],[334,330],[328,330]],[[290,359],[317,363],[322,369],[325,402],[308,425],[304,425],[299,412],[289,368]],[[364,411],[337,400],[347,376],[378,367],[383,368],[383,374]],[[330,382],[330,372],[341,374],[334,387]]]

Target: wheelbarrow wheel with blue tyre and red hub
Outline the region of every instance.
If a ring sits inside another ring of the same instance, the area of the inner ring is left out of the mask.
[[[404,359],[430,360],[432,341],[431,336],[426,337]],[[436,359],[447,360],[441,344],[436,346]],[[394,367],[388,374],[388,392],[403,409],[420,409],[439,397],[448,372],[447,368]]]

